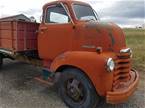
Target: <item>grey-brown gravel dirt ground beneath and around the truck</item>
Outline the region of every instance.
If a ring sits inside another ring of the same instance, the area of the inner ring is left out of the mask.
[[[33,78],[40,68],[5,61],[0,70],[0,108],[67,108],[53,87],[44,86]],[[145,108],[145,74],[128,102],[120,105],[102,103],[97,108]]]

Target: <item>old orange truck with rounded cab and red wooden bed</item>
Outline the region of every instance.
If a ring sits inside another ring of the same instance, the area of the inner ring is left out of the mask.
[[[41,24],[1,21],[0,66],[5,58],[43,67],[35,79],[54,82],[70,108],[94,108],[102,97],[122,103],[139,81],[123,30],[79,1],[45,4]]]

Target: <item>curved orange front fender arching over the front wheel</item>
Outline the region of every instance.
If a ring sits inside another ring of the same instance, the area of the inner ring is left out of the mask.
[[[51,64],[51,71],[56,71],[61,66],[73,66],[81,69],[93,83],[96,91],[101,96],[112,89],[113,74],[107,72],[105,53],[72,51],[66,52],[55,58]]]

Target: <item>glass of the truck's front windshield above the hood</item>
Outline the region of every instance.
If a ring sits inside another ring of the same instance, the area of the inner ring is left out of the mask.
[[[90,6],[74,4],[73,9],[78,20],[97,20],[97,16]]]

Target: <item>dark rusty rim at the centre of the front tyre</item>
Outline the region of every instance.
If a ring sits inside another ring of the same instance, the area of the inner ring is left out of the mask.
[[[82,103],[86,98],[85,88],[81,81],[71,78],[66,81],[66,94],[76,103]]]

